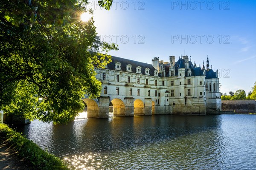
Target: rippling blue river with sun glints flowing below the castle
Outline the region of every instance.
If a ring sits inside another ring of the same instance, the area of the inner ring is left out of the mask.
[[[256,115],[35,120],[18,130],[81,170],[256,170]]]

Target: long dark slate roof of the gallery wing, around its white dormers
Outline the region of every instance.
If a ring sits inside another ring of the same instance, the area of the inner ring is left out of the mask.
[[[115,56],[111,56],[111,57],[112,57],[112,59],[111,59],[112,62],[108,63],[108,68],[107,68],[109,70],[115,70],[116,62],[120,62],[121,63],[121,71],[136,74],[136,67],[140,66],[141,67],[141,74],[147,75],[147,74],[145,74],[145,68],[149,68],[149,75],[154,76],[155,68],[151,64],[147,64],[147,63],[144,63],[144,62],[138,62],[138,61],[134,61],[134,60],[131,60],[131,59],[124,59],[124,58],[115,57]],[[126,65],[128,65],[128,64],[132,65],[131,72],[126,71]]]

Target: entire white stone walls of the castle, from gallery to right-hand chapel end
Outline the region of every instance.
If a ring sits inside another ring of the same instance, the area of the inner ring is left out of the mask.
[[[102,82],[101,96],[109,96],[110,102],[116,98],[123,102],[125,98],[134,98],[142,100],[145,104],[145,99],[151,98],[156,106],[173,106],[175,103],[176,108],[180,107],[183,110],[186,110],[184,107],[195,108],[193,112],[196,112],[196,108],[200,108],[200,113],[203,113],[207,106],[211,105],[210,108],[212,108],[213,105],[215,109],[221,110],[219,79],[205,79],[205,76],[185,77],[185,68],[178,69],[178,75],[173,77],[156,77],[101,68],[95,68],[95,71],[96,78]],[[103,73],[106,75],[105,80],[103,80]],[[119,75],[119,82],[116,80],[116,75]],[[130,82],[128,82],[128,77],[130,77]],[[140,78],[139,84],[138,78]],[[146,85],[146,79],[148,79],[148,85]],[[190,79],[190,84],[188,84],[188,79]],[[155,81],[157,81],[157,85],[155,85]],[[171,86],[171,81],[174,82],[173,86]],[[208,90],[205,88],[206,83]],[[209,83],[212,84],[211,91],[209,91]],[[213,91],[214,83],[215,91]],[[104,87],[108,88],[107,94],[104,94]],[[119,88],[118,95],[116,95],[116,88]],[[132,89],[132,95],[129,95],[130,89]],[[138,89],[140,96],[137,95]],[[188,89],[190,89],[190,95],[188,95]],[[171,96],[172,90],[174,96]],[[150,96],[148,96],[148,91],[150,91]],[[157,96],[155,91],[157,91]]]

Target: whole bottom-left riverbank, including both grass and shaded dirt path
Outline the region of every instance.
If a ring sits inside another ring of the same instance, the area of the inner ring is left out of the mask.
[[[42,150],[37,144],[26,139],[6,124],[0,124],[0,142],[1,168],[23,170],[26,165],[26,170],[69,170],[63,160]],[[5,156],[6,159],[4,159]],[[8,156],[10,162],[5,161]],[[15,167],[10,167],[9,164]]]

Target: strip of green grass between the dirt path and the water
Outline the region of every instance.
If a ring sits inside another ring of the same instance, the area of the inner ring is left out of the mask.
[[[0,124],[0,138],[7,140],[15,148],[18,156],[31,164],[31,169],[68,170],[60,158],[42,150],[37,144],[5,124]]]

